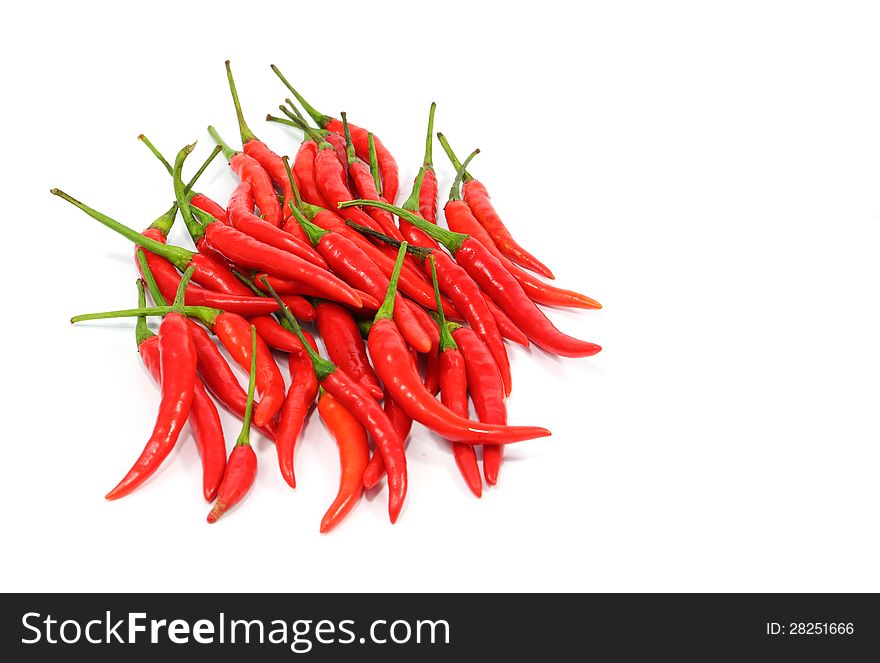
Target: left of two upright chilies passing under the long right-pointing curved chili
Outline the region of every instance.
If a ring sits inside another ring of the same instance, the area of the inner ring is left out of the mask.
[[[431,263],[431,271],[434,275],[434,289],[437,296],[440,296],[440,288],[437,284],[437,267],[434,264],[434,258],[429,258]],[[446,318],[443,315],[443,307],[440,307],[439,317],[439,348],[437,352],[437,363],[439,366],[438,383],[440,387],[440,401],[448,407],[452,412],[465,419],[468,418],[468,373],[465,368],[465,359],[458,349],[449,329],[446,326]],[[481,341],[482,343],[482,341]],[[483,346],[485,347],[485,346]],[[491,355],[490,355],[491,358]],[[494,360],[492,365],[494,367]],[[499,374],[500,377],[500,374]],[[503,390],[502,390],[503,391]],[[507,423],[494,422],[494,423]],[[501,445],[496,445],[502,449]],[[485,447],[490,449],[493,447]],[[483,453],[485,453],[485,449]],[[452,453],[455,457],[455,464],[458,466],[461,476],[471,492],[477,497],[483,495],[483,480],[480,478],[480,466],[477,463],[477,452],[470,444],[462,444],[461,442],[452,443]]]

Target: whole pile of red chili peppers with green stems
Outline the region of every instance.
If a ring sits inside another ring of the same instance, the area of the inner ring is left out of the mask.
[[[413,421],[449,440],[462,478],[480,497],[484,479],[498,481],[504,445],[550,434],[507,423],[512,376],[505,341],[588,357],[601,348],[557,329],[540,306],[601,307],[547,281],[553,273],[517,243],[487,187],[468,171],[479,150],[461,162],[440,133],[456,176],[443,206],[448,229],[438,224],[434,104],[424,161],[397,207],[397,163],[382,141],[345,113],[339,119],[319,113],[277,67],[272,70],[296,99],[280,106],[284,117],[267,116],[302,134],[292,164],[248,127],[227,62],[241,149],[209,127],[217,147],[184,183],[195,145],[169,162],[141,136],[174,189],[170,208],[142,232],[52,189],[135,244],[137,307],[72,322],[136,318],[138,351],[161,390],[146,446],[107,499],[147,481],[186,423],[201,455],[204,497],[213,503],[209,523],[254,483],[252,426],[275,443],[281,476],[296,487],[294,449],[316,402],[341,465],[321,532],[385,474],[389,515],[397,520]],[[225,207],[194,188],[220,152],[238,178]],[[178,216],[193,249],[166,242]],[[156,334],[149,317],[161,319]],[[316,336],[301,327],[306,323],[323,341],[325,356]],[[276,362],[284,355],[288,381]],[[247,389],[227,356],[249,374]],[[217,405],[242,420],[231,452]]]

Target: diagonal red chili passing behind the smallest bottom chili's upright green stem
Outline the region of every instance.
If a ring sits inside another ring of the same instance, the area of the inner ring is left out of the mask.
[[[147,262],[147,253],[146,251],[139,250],[136,254],[138,269],[156,305],[163,306],[165,304],[165,297],[153,278],[153,272],[150,270]],[[138,321],[140,321],[140,318],[138,318]],[[244,417],[247,394],[238,384],[238,380],[226,362],[226,358],[217,349],[217,346],[214,345],[214,341],[208,336],[208,332],[193,320],[188,320],[188,322],[190,336],[196,349],[196,368],[205,386],[214,394],[214,397],[223,407],[241,419]],[[269,420],[264,426],[255,425],[255,427],[270,440],[274,440],[278,432],[274,420]],[[223,450],[223,462],[226,462],[225,447]]]

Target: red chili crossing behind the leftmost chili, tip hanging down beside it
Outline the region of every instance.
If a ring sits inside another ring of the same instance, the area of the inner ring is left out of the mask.
[[[138,308],[147,305],[144,282],[138,279]],[[160,298],[157,304],[164,304]],[[199,327],[201,329],[201,327]],[[147,328],[147,318],[141,316],[135,325],[138,352],[147,371],[156,384],[162,383],[162,360],[159,353],[159,337]],[[198,354],[198,348],[196,348]],[[226,467],[226,442],[223,439],[223,425],[214,401],[208,395],[204,383],[197,377],[193,384],[193,399],[189,410],[189,425],[193,439],[202,459],[202,492],[209,502],[214,500],[217,487],[223,478]]]

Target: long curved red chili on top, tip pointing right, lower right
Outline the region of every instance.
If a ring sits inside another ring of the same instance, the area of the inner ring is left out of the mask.
[[[420,222],[426,223],[423,219]],[[427,224],[430,225],[430,224]],[[398,263],[403,263],[406,242],[400,245]],[[399,271],[399,269],[398,269]],[[469,444],[507,444],[550,434],[536,426],[495,426],[460,417],[425,390],[418,371],[410,360],[406,341],[392,322],[397,279],[391,279],[385,301],[370,327],[367,348],[373,369],[385,385],[387,394],[396,400],[415,421],[453,442]],[[388,459],[385,459],[387,464]]]

